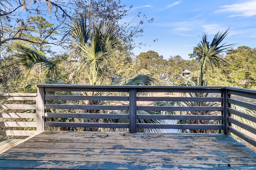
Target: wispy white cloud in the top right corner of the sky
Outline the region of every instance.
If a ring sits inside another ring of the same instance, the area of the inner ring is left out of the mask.
[[[240,4],[232,4],[232,5],[225,5],[221,6],[223,8],[221,10],[216,10],[216,13],[224,13],[224,12],[233,12],[234,15],[230,15],[230,17],[235,16],[255,16],[256,15],[256,0],[250,0],[248,2],[243,2]]]

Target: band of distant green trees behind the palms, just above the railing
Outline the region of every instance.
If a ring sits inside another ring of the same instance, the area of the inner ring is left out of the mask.
[[[256,49],[241,46],[223,54],[226,63],[220,68],[208,69],[205,81],[208,86],[234,86],[256,89]],[[12,64],[13,57],[6,56],[0,62],[1,92],[35,92],[35,84],[47,82],[45,74],[40,71],[40,65],[35,66],[30,73],[22,69],[22,65]],[[53,55],[50,60],[55,61],[66,70],[72,70],[69,55]],[[183,60],[180,56],[164,59],[155,51],[140,53],[134,59],[130,56],[116,54],[112,57],[108,70],[109,84],[115,78],[130,78],[138,74],[156,73],[158,85],[174,85],[178,74],[184,70],[191,72],[190,76],[197,80],[200,76],[200,63],[196,59]],[[81,84],[79,79],[72,79],[71,72],[62,70],[59,83]],[[72,80],[71,80],[72,79]],[[86,80],[85,80],[86,81]]]

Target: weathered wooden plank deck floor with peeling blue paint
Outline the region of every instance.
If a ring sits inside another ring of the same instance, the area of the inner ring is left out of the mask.
[[[222,134],[44,131],[0,154],[0,170],[256,169],[256,152]]]

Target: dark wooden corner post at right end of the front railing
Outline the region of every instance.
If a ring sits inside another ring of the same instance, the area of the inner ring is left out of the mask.
[[[230,105],[228,104],[228,98],[230,98],[230,95],[228,94],[228,90],[224,89],[223,92],[223,131],[225,135],[230,135],[230,131],[228,131],[228,126],[230,125],[230,123],[228,122],[228,117],[229,117],[229,113],[228,113],[228,107],[230,107]]]

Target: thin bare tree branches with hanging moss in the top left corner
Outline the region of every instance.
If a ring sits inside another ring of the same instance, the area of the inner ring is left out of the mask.
[[[60,0],[34,0],[33,2],[32,4],[31,0],[4,0],[0,3],[0,46],[17,39],[41,44],[42,40],[40,39],[19,36],[29,25],[31,15],[48,17],[54,24],[52,25],[52,33],[54,30],[62,28],[60,25],[68,22],[67,18],[70,18],[70,15],[66,10],[63,10]],[[45,6],[48,6],[48,8],[45,8]],[[52,13],[52,10],[54,10],[54,13]]]

